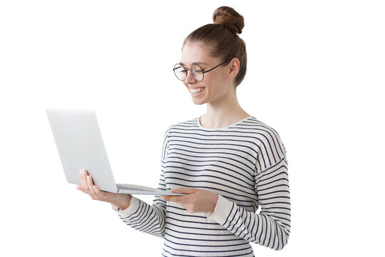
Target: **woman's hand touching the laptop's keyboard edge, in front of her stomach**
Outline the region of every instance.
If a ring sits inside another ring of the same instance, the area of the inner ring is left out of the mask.
[[[187,196],[163,196],[165,201],[180,203],[189,213],[207,212],[211,215],[219,196],[207,190],[197,188],[177,188],[172,193],[186,193]]]

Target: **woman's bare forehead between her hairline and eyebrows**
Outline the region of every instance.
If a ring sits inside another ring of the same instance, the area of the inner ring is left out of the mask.
[[[205,63],[210,64],[215,61],[215,58],[210,56],[210,52],[205,49],[202,44],[198,43],[186,43],[182,49],[181,63],[190,65],[193,63]]]

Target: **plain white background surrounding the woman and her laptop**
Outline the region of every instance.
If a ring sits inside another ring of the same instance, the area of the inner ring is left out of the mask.
[[[165,130],[205,114],[173,65],[222,5],[245,17],[240,104],[289,162],[289,243],[255,255],[383,251],[383,1],[77,0],[0,2],[1,256],[160,256],[66,183],[45,109],[95,109],[116,181],[156,186]]]

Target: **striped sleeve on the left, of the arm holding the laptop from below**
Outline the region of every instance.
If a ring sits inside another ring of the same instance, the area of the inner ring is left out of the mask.
[[[166,131],[160,165],[160,179],[158,183],[158,189],[165,190],[165,176],[164,166],[165,158],[167,157],[168,151],[168,131]],[[131,198],[130,206],[125,210],[117,210],[120,219],[126,225],[131,228],[135,228],[138,231],[149,233],[153,236],[163,237],[165,233],[165,207],[166,201],[155,196],[153,204],[150,205],[141,201],[139,198]]]

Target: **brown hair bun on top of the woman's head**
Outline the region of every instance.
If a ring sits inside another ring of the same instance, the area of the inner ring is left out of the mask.
[[[220,6],[217,8],[214,11],[212,20],[214,21],[214,24],[227,26],[227,28],[236,34],[241,34],[242,29],[245,26],[243,16],[238,14],[235,9],[228,6]]]

